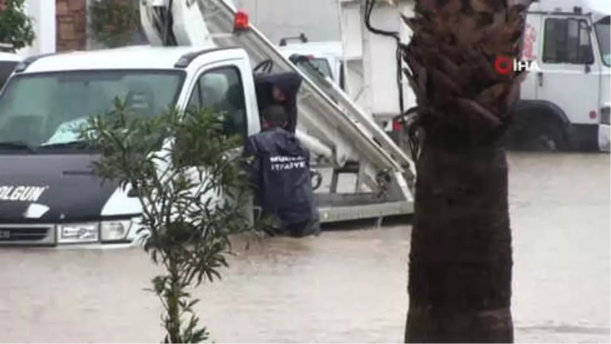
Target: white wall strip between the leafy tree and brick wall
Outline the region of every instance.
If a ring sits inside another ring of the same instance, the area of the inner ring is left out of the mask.
[[[21,56],[53,53],[56,50],[55,0],[26,0],[27,14],[34,21],[31,47],[17,51]]]

